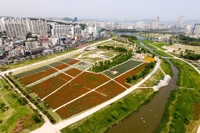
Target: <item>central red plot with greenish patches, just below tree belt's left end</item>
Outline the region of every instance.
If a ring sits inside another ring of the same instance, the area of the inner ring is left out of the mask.
[[[84,72],[79,75],[77,78],[72,80],[72,83],[79,84],[81,86],[85,86],[90,89],[94,89],[97,86],[109,81],[109,78],[104,76],[103,74],[94,74]]]

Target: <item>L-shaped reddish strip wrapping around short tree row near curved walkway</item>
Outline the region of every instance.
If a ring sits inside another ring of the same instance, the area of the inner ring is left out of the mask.
[[[115,81],[119,82],[120,84],[122,84],[123,86],[129,88],[130,85],[126,84],[126,78],[133,76],[134,74],[139,73],[140,71],[142,71],[144,69],[144,67],[147,65],[148,63],[143,63],[142,65],[140,65],[139,67],[123,74],[122,76],[118,77],[115,79]]]

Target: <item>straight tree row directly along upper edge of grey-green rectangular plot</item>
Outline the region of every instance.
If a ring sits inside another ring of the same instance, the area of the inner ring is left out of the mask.
[[[113,57],[111,60],[106,61],[99,61],[99,64],[95,63],[95,65],[92,67],[92,71],[94,72],[102,72],[104,70],[107,70],[109,68],[112,68],[118,64],[121,64],[133,56],[133,51],[129,50],[127,52],[120,53]]]

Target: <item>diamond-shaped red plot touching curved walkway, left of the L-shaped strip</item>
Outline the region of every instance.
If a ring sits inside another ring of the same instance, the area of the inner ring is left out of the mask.
[[[113,98],[125,91],[125,89],[114,81],[110,81],[109,83],[98,88],[96,91],[107,95],[109,98]]]

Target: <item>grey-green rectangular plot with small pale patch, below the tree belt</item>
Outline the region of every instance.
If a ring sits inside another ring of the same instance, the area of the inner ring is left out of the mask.
[[[134,61],[134,60],[129,60],[127,61],[126,63],[124,64],[121,64],[117,67],[114,67],[108,71],[105,71],[104,74],[109,76],[110,78],[114,78],[114,77],[117,77],[119,75],[121,75],[122,73],[138,66],[139,64],[142,64],[142,62],[139,62],[139,61]],[[111,71],[117,71],[118,73],[117,74],[112,74]]]

